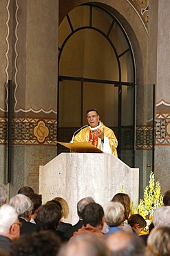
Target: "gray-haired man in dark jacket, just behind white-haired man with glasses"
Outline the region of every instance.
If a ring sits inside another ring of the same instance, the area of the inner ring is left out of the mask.
[[[33,210],[33,203],[28,196],[24,194],[17,194],[10,199],[9,202],[19,216],[19,221],[23,223],[21,228],[21,235],[25,233],[35,232],[39,229],[39,226],[30,222]]]

